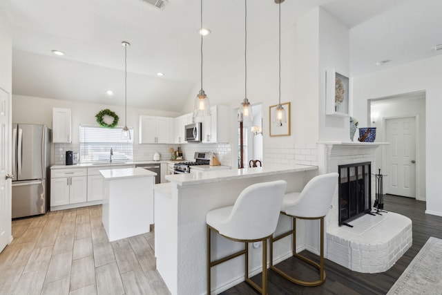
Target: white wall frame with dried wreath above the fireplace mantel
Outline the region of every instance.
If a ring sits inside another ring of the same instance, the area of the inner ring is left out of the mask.
[[[343,73],[336,72],[336,70],[327,70],[325,89],[325,114],[349,117],[351,79]]]

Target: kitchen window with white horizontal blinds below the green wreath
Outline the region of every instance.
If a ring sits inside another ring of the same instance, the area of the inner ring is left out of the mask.
[[[133,128],[131,139],[122,139],[122,127],[107,129],[100,126],[80,125],[80,161],[112,162],[133,161]]]

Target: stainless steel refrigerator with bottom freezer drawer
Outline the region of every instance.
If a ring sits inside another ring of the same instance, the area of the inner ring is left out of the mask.
[[[46,125],[12,124],[12,218],[48,210],[49,140]]]

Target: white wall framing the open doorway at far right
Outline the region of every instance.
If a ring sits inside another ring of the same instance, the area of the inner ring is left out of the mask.
[[[442,216],[442,55],[354,77],[354,116],[367,120],[367,99],[425,91],[427,213]]]

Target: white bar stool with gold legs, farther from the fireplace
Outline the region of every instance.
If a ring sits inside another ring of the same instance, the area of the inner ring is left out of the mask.
[[[238,196],[235,204],[209,211],[207,224],[207,294],[211,294],[211,268],[245,254],[245,280],[261,294],[267,294],[267,239],[276,230],[282,198],[287,187],[284,180],[252,184]],[[211,261],[211,231],[244,242],[244,249]],[[249,242],[262,241],[262,287],[249,279]]]

